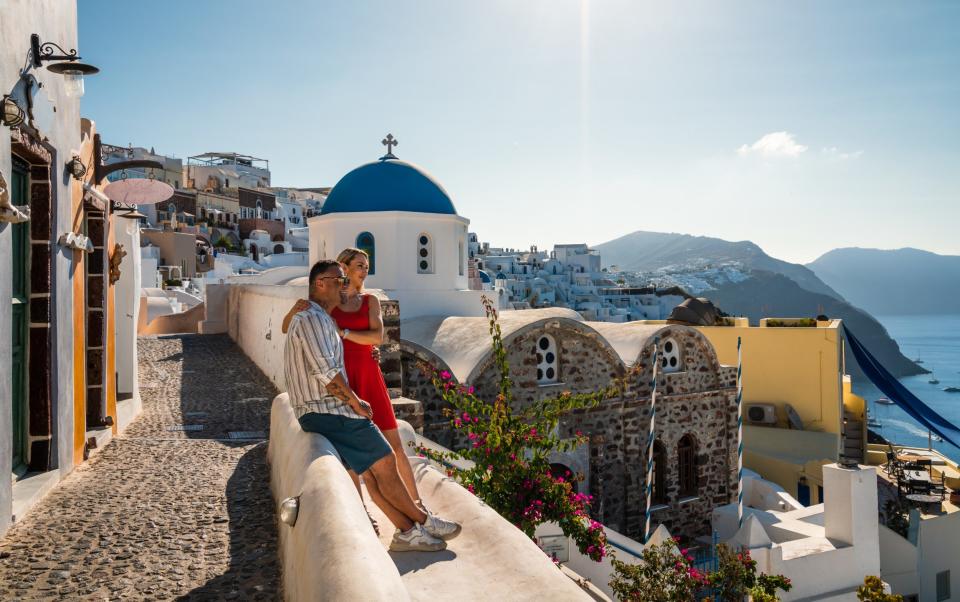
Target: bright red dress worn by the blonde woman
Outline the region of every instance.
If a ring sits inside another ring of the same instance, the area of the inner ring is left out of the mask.
[[[343,311],[339,307],[330,312],[341,329],[370,330],[370,295],[363,295],[360,309]],[[380,364],[373,359],[373,345],[362,345],[343,340],[343,364],[347,370],[347,381],[357,397],[373,408],[373,423],[381,431],[397,428],[397,417],[393,414],[390,393],[383,380]]]

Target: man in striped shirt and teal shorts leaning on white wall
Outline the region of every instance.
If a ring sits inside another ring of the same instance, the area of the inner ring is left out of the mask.
[[[348,470],[363,475],[373,501],[397,527],[391,551],[438,551],[460,525],[424,512],[407,492],[393,449],[356,396],[343,368],[343,343],[329,312],[340,303],[347,279],[340,264],[318,261],[310,269],[311,307],[293,317],[284,347],[290,402],[304,431],[325,436]]]

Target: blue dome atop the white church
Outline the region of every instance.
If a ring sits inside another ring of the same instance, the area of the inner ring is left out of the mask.
[[[355,211],[414,211],[456,215],[450,195],[422,168],[383,158],[340,178],[320,215]]]

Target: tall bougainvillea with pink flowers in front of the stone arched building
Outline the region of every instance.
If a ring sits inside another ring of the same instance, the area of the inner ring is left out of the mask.
[[[450,372],[421,364],[420,369],[448,404],[444,412],[451,427],[468,443],[450,453],[422,446],[418,451],[447,466],[448,476],[529,537],[533,537],[537,525],[556,522],[581,553],[599,562],[607,554],[606,535],[603,526],[590,519],[591,496],[576,491],[575,485],[583,476],[552,474],[549,456],[573,450],[587,440],[580,432],[572,438],[561,438],[557,424],[562,416],[593,407],[618,390],[614,387],[585,395],[564,392],[526,407],[514,407],[513,382],[497,311],[486,297],[483,304],[490,323],[493,361],[500,373],[499,393],[492,400],[480,399],[473,387],[457,383]],[[472,466],[461,468],[466,463],[456,461],[462,460],[472,462]]]

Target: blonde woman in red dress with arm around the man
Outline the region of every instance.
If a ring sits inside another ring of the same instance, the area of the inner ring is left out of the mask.
[[[331,312],[330,317],[337,323],[340,338],[343,339],[343,363],[347,371],[347,382],[357,397],[373,408],[373,422],[393,448],[403,484],[406,485],[410,497],[423,508],[417,483],[413,478],[413,469],[397,430],[397,418],[393,413],[393,404],[390,403],[390,394],[387,392],[380,364],[374,358],[374,346],[383,343],[383,316],[380,312],[380,300],[363,290],[363,281],[370,270],[370,258],[366,251],[350,248],[341,251],[337,261],[343,266],[350,284],[344,291],[340,305]],[[305,299],[294,304],[283,318],[284,333],[287,332],[293,316],[308,307],[310,303]],[[351,473],[351,476],[359,489],[356,475]]]

